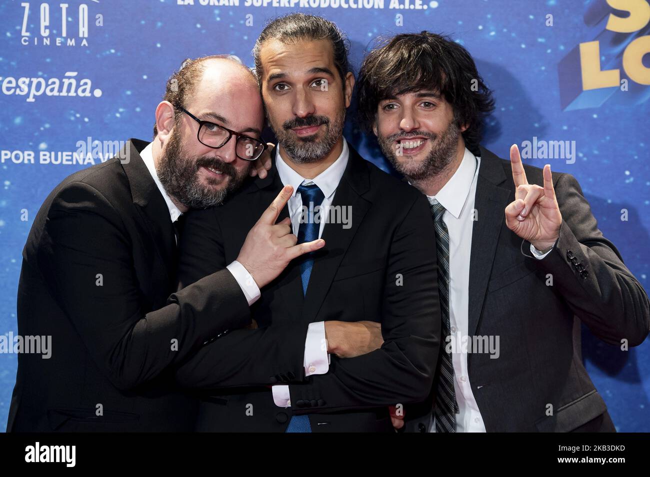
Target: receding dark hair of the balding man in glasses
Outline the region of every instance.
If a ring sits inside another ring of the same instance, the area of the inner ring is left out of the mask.
[[[169,101],[174,105],[174,108],[178,108],[179,106],[185,108],[186,106],[185,101],[187,101],[187,98],[190,95],[192,95],[192,93],[194,93],[194,90],[196,89],[196,84],[198,84],[199,80],[203,75],[205,61],[214,60],[214,59],[231,60],[241,65],[242,67],[246,68],[248,71],[250,71],[250,69],[248,69],[248,67],[246,67],[241,62],[241,60],[234,55],[201,56],[200,58],[194,58],[193,60],[191,58],[187,58],[186,60],[183,60],[181,67],[179,67],[179,69],[174,71],[172,76],[170,76],[169,79],[167,80],[162,101]],[[251,75],[253,75],[252,71],[250,71],[250,73]],[[175,110],[174,121],[181,114],[182,114],[181,111]],[[153,137],[155,138],[157,134],[158,134],[158,128],[154,123]]]

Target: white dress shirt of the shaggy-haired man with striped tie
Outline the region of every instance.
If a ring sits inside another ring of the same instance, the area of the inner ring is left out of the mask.
[[[469,258],[474,228],[474,201],[476,180],[481,158],[467,148],[458,169],[435,196],[427,195],[429,203],[439,202],[445,208],[443,221],[449,234],[449,330],[452,342],[467,337],[469,332]],[[540,254],[532,245],[530,250],[538,260],[549,252]],[[447,341],[442,337],[441,346]],[[478,404],[474,398],[467,372],[467,350],[452,349],[454,366],[454,391],[459,413],[456,414],[456,432],[486,432]],[[430,432],[435,432],[432,419]]]

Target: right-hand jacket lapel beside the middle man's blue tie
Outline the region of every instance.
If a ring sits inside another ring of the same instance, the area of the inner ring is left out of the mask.
[[[370,188],[368,168],[365,167],[365,160],[350,147],[350,156],[346,165],[341,182],[334,194],[332,206],[350,207],[352,212],[352,223],[350,228],[343,228],[340,223],[328,223],[323,230],[322,239],[325,240],[324,249],[316,252],[314,266],[309,278],[309,287],[305,296],[302,317],[307,322],[314,321],[320,310],[320,306],[330,289],[331,282],[336,275],[337,269],[345,256],[350,242],[356,234],[359,224],[363,220],[371,203],[365,199],[363,194]],[[299,268],[299,267],[296,267]],[[300,273],[298,273],[300,275]],[[300,288],[302,294],[302,287]]]

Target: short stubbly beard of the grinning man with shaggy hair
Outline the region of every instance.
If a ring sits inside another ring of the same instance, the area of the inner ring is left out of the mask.
[[[404,134],[393,134],[389,138],[380,137],[378,138],[378,142],[382,148],[383,155],[386,156],[395,170],[411,182],[417,182],[439,175],[453,162],[454,156],[456,156],[456,145],[458,144],[459,134],[460,129],[455,119],[450,121],[447,129],[439,136],[432,132],[423,131],[413,134],[413,136],[426,136],[432,142],[431,151],[418,164],[408,164],[397,160],[395,139],[404,137]],[[408,137],[408,135],[406,136]],[[437,141],[435,141],[436,137],[438,139]]]

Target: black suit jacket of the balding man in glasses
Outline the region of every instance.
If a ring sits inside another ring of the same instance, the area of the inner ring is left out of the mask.
[[[66,178],[34,219],[18,332],[50,335],[52,350],[48,360],[18,356],[8,431],[191,430],[196,398],[170,370],[250,323],[228,271],[173,293],[174,228],[140,158],[146,144],[131,140],[123,164],[112,158]]]

